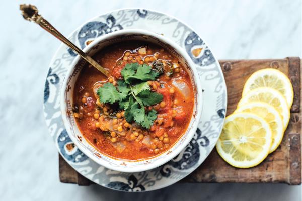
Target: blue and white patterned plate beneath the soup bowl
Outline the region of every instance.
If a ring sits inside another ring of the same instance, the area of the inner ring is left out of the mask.
[[[44,89],[44,115],[49,132],[63,158],[93,182],[121,191],[148,191],[169,186],[194,171],[209,155],[220,135],[226,112],[226,86],[218,61],[203,40],[187,25],[163,13],[122,9],[89,20],[69,37],[84,49],[87,41],[121,29],[157,30],[183,47],[196,65],[203,91],[203,111],[195,136],[168,163],[145,172],[123,173],[107,169],[89,159],[73,144],[64,128],[60,111],[60,89],[76,54],[65,45],[55,53]],[[194,55],[192,50],[201,52]]]

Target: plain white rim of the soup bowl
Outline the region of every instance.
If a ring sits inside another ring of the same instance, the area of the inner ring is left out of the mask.
[[[72,133],[72,131],[70,130],[69,126],[67,126],[67,125],[69,125],[69,123],[68,123],[67,115],[66,115],[67,114],[66,104],[60,104],[60,110],[61,110],[61,114],[62,114],[63,124],[64,124],[64,127],[66,129],[66,132],[67,132],[68,136],[70,137],[72,143],[74,143],[75,146],[77,146],[77,148],[79,150],[81,150],[86,156],[88,156],[90,159],[92,159],[94,162],[98,163],[99,165],[104,166],[108,169],[115,170],[115,171],[120,171],[120,172],[134,173],[134,172],[143,172],[143,171],[147,171],[147,170],[150,170],[150,169],[154,169],[154,168],[157,168],[157,167],[167,163],[168,161],[172,160],[176,155],[178,155],[189,144],[189,142],[194,137],[194,134],[195,134],[195,132],[198,128],[198,124],[199,124],[199,121],[200,121],[200,118],[201,118],[202,107],[203,107],[203,95],[202,95],[203,93],[202,93],[202,86],[201,86],[198,71],[197,71],[197,69],[195,67],[195,64],[193,63],[192,59],[187,54],[187,52],[182,47],[180,47],[176,42],[174,42],[171,39],[166,38],[163,35],[158,34],[156,32],[151,32],[151,31],[147,31],[147,30],[144,30],[144,29],[123,29],[123,30],[114,31],[114,32],[104,34],[102,36],[99,36],[99,37],[95,38],[82,51],[87,53],[95,45],[97,45],[97,43],[99,43],[100,41],[106,40],[108,38],[123,36],[125,34],[142,34],[142,35],[146,35],[146,36],[155,37],[158,40],[170,45],[188,63],[188,67],[192,71],[192,76],[194,77],[194,82],[195,82],[195,85],[196,85],[196,91],[198,93],[196,95],[196,97],[198,99],[198,105],[197,105],[197,108],[196,108],[196,116],[195,116],[196,121],[195,121],[195,123],[193,123],[190,131],[188,132],[187,138],[184,139],[184,141],[179,145],[179,147],[177,147],[177,149],[175,149],[172,153],[170,153],[169,155],[166,154],[166,157],[162,157],[160,160],[157,160],[156,162],[148,163],[144,166],[133,166],[131,168],[124,168],[124,166],[121,166],[121,165],[120,166],[111,166],[110,163],[105,162],[105,161],[103,162],[102,159],[100,160],[100,159],[95,158],[92,152],[82,148],[82,145],[77,141],[77,139],[73,135],[70,134],[70,133]],[[67,89],[67,80],[69,79],[71,73],[73,72],[74,67],[78,64],[78,62],[80,61],[81,58],[82,57],[80,55],[77,55],[73,59],[73,61],[71,63],[71,67],[67,70],[67,72],[65,74],[65,77],[64,77],[64,80],[63,80],[63,83],[62,83],[62,86],[61,86],[61,90],[60,90],[60,103],[65,102],[65,91]],[[75,125],[77,125],[77,124],[75,124]],[[173,146],[175,146],[175,144]],[[170,147],[170,149],[172,147]],[[96,149],[96,151],[98,151],[98,150]],[[98,151],[98,152],[100,152],[100,151]],[[113,160],[123,160],[123,159],[115,159],[113,157],[111,157],[111,158]],[[153,157],[153,158],[156,158],[156,156]],[[143,159],[141,161],[144,161],[144,160],[148,160],[148,159]],[[129,162],[131,162],[131,161],[129,161]],[[133,160],[133,162],[135,162],[135,160]]]

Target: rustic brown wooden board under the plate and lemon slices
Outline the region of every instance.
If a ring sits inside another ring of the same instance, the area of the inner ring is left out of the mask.
[[[241,98],[245,81],[255,71],[275,68],[285,73],[294,91],[291,117],[283,140],[278,149],[260,165],[239,169],[224,162],[214,148],[207,159],[180,182],[241,182],[241,183],[288,183],[301,184],[301,60],[298,57],[265,60],[220,60],[226,87],[228,88],[228,109],[226,115],[234,112]],[[59,155],[60,181],[89,185],[93,182],[76,172]]]

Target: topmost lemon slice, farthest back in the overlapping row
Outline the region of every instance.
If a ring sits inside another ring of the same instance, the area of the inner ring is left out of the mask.
[[[293,89],[288,77],[279,70],[266,68],[254,72],[244,85],[242,96],[258,87],[270,87],[279,91],[286,99],[288,108],[293,102]]]

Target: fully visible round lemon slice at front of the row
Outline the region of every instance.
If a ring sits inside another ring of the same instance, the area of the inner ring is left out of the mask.
[[[271,137],[269,124],[263,118],[253,113],[234,113],[225,118],[216,149],[234,167],[254,167],[268,155]]]

